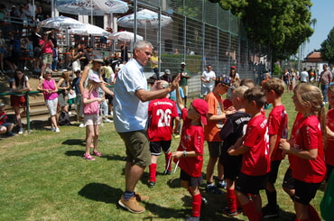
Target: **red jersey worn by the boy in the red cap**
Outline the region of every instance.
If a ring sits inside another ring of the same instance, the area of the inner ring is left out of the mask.
[[[200,177],[203,167],[203,149],[204,149],[204,132],[201,125],[191,125],[188,118],[188,110],[182,109],[182,133],[181,142],[178,147],[179,152],[195,151],[200,156],[197,157],[181,157],[179,167],[191,177]]]

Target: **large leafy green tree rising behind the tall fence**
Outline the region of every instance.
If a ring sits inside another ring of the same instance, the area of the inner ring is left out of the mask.
[[[241,19],[250,39],[270,45],[274,60],[295,54],[313,33],[311,0],[220,0],[219,5]]]

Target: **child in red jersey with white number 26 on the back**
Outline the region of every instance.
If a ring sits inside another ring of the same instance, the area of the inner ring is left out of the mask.
[[[168,87],[168,82],[162,81],[162,85]],[[167,95],[167,97],[169,97],[169,95]],[[174,132],[176,133],[179,128],[180,117],[175,102],[167,97],[155,99],[151,101],[148,106],[149,125],[147,134],[150,140],[151,151],[149,188],[155,186],[157,161],[162,153],[161,149],[165,154],[166,161],[166,167],[163,173],[171,174],[172,172],[172,152],[170,150],[173,133],[172,126],[175,119]]]

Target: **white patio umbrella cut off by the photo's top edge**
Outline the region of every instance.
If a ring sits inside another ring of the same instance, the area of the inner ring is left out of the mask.
[[[67,4],[62,4],[67,2]],[[123,14],[129,10],[128,5],[120,0],[58,0],[56,8],[60,13],[85,14],[85,15],[104,15],[104,14]]]

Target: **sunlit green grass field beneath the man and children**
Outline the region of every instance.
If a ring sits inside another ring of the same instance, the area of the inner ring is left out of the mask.
[[[291,97],[292,94],[283,96],[290,128],[295,116]],[[125,189],[124,143],[114,124],[104,124],[98,139],[103,157],[85,161],[84,139],[85,129],[78,125],[61,127],[60,134],[32,130],[31,134],[1,137],[0,220],[183,220],[190,215],[191,198],[180,187],[180,170],[162,175],[164,156],[158,161],[156,186],[147,187],[148,169],[137,185],[137,192],[150,197],[144,203],[146,211],[131,214],[118,208],[117,201]],[[179,139],[172,141],[172,150],[179,142]],[[206,165],[207,147],[205,157]],[[284,160],[276,184],[280,218],[273,220],[290,220],[294,216],[292,201],[281,188],[287,167],[288,161]],[[203,190],[202,196],[208,200],[208,205],[202,207],[203,220],[246,220],[246,216],[231,218],[219,212],[226,205],[225,195],[207,194]],[[265,205],[264,192],[262,196]],[[311,201],[318,211],[322,196],[320,189]]]

